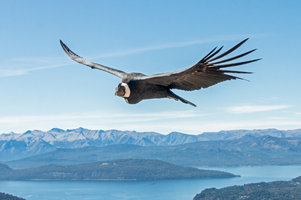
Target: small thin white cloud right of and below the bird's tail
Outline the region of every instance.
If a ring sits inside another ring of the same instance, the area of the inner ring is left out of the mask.
[[[291,105],[238,105],[238,106],[227,107],[225,108],[225,110],[227,112],[240,114],[240,113],[248,113],[248,112],[283,109],[287,107],[292,107],[292,106]]]

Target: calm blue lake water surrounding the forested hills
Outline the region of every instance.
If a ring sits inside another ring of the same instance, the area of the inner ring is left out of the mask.
[[[197,167],[239,174],[234,178],[177,180],[27,180],[0,181],[0,192],[27,200],[131,199],[192,200],[203,189],[251,182],[290,180],[301,175],[301,165]]]

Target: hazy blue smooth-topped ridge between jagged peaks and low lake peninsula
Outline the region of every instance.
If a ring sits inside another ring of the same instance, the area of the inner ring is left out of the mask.
[[[301,164],[301,137],[246,137],[197,141],[179,145],[112,144],[57,148],[40,155],[4,162],[12,168],[47,164],[72,165],[116,159],[159,159],[184,166]]]

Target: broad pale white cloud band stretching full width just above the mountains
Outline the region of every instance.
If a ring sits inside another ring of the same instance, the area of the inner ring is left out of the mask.
[[[10,131],[21,133],[33,129],[46,131],[53,127],[71,129],[81,126],[104,130],[156,131],[163,134],[172,131],[200,134],[207,131],[230,129],[294,129],[301,126],[301,121],[296,115],[291,118],[259,117],[250,119],[247,117],[234,120],[220,114],[206,114],[197,110],[147,113],[120,113],[113,110],[101,110],[54,115],[7,116],[0,117],[0,133]]]

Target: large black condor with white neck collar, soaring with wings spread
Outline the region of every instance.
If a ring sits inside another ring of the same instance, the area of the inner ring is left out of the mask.
[[[248,39],[248,38],[247,38]],[[221,61],[215,61],[219,58],[222,58],[240,45],[242,45],[247,39],[236,44],[226,52],[214,57],[220,50],[216,50],[215,47],[210,51],[205,57],[203,57],[198,63],[172,72],[167,73],[158,73],[154,75],[144,75],[142,73],[126,73],[124,71],[110,68],[101,64],[91,62],[71,51],[66,44],[61,42],[61,46],[64,51],[69,55],[69,57],[81,64],[90,66],[92,69],[97,68],[100,70],[107,71],[111,74],[114,74],[121,78],[121,83],[115,87],[115,95],[120,96],[125,99],[129,104],[135,104],[140,102],[143,99],[152,99],[152,98],[173,98],[175,100],[180,100],[183,103],[188,103],[193,106],[196,106],[194,103],[182,98],[181,96],[175,94],[172,89],[182,89],[185,91],[198,90],[201,88],[207,88],[212,85],[215,85],[219,82],[231,79],[243,79],[226,73],[252,73],[244,71],[234,71],[234,70],[225,70],[224,68],[230,66],[237,66],[242,64],[247,64],[250,62],[257,61],[259,59],[253,59],[249,61],[228,63],[224,62],[232,61],[237,58],[243,57],[254,50],[236,55],[234,57],[224,59]],[[216,50],[216,51],[215,51]]]

